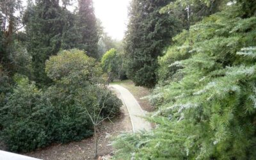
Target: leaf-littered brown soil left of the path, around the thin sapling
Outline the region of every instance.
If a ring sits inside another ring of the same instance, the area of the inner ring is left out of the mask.
[[[122,114],[116,116],[112,122],[104,122],[100,130],[99,150],[98,155],[104,156],[111,154],[113,148],[109,142],[115,139],[115,136],[122,132],[132,132],[131,120],[128,115],[127,108],[122,106]],[[68,144],[56,144],[50,147],[30,152],[26,156],[36,157],[39,159],[93,159],[94,157],[94,141],[93,137],[86,138],[82,141],[72,142]]]

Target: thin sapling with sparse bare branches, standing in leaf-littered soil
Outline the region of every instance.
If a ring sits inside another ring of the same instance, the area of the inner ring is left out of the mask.
[[[92,106],[88,106],[87,93],[82,90],[79,91],[76,101],[77,105],[81,106],[81,109],[84,110],[83,113],[86,113],[90,117],[90,121],[93,124],[94,130],[94,141],[95,141],[95,157],[98,153],[98,141],[99,141],[99,132],[100,124],[104,120],[109,120],[119,113],[119,108],[122,106],[122,102],[113,95],[106,86],[95,87],[90,86],[86,90],[87,92],[93,93],[95,100],[93,101]]]

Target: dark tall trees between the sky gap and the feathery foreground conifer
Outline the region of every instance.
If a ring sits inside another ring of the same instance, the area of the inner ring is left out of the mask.
[[[152,87],[157,83],[157,57],[182,29],[202,17],[218,12],[224,1],[133,0],[125,35],[127,75],[135,84]]]

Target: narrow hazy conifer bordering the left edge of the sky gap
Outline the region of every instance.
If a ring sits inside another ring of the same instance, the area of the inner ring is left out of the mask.
[[[79,33],[76,47],[98,58],[99,35],[92,0],[78,0],[76,28]]]

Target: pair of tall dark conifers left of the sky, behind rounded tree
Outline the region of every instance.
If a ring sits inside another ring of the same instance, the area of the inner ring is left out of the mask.
[[[33,56],[33,79],[39,84],[49,84],[45,74],[45,61],[60,49],[78,48],[97,58],[98,28],[92,0],[79,0],[78,12],[71,13],[66,3],[59,1],[29,1],[26,24],[27,49]]]

